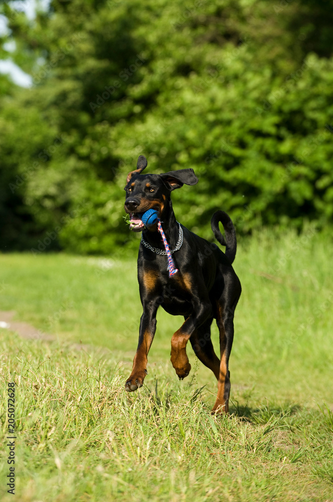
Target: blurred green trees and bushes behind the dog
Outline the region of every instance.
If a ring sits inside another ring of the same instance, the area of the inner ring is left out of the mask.
[[[241,233],[331,224],[332,1],[53,0],[35,20],[16,5],[2,45],[34,83],[0,77],[3,250],[136,238],[123,187],[141,154],[148,172],[194,169],[173,199],[204,237],[217,208]]]

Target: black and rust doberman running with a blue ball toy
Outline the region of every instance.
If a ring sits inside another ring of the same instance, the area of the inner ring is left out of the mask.
[[[172,315],[182,315],[183,325],[171,338],[171,362],[179,379],[185,378],[191,365],[186,354],[190,340],[198,359],[211,369],[218,381],[218,392],[212,413],[228,412],[230,395],[229,356],[233,341],[233,317],[241,286],[231,264],[236,255],[236,232],[224,211],[214,213],[211,226],[218,242],[226,246],[225,254],[216,244],[208,242],[180,225],[172,209],[170,194],[184,184],[195,185],[198,178],[193,169],[181,169],[163,174],[141,174],[147,160],[140,155],[137,169],[127,176],[125,211],[130,214],[130,229],[142,231],[138,256],[138,281],[143,314],[139,343],[132,373],[125,389],[142,387],[147,374],[147,355],[156,330],[156,312],[161,305]],[[157,224],[145,229],[140,213],[158,211],[158,217],[173,253],[178,272],[169,277],[167,259]],[[223,224],[226,239],[219,230]],[[180,234],[183,234],[182,243]],[[179,243],[181,243],[179,247]],[[165,253],[164,253],[165,255]],[[219,329],[220,358],[214,352],[210,338],[213,319]]]

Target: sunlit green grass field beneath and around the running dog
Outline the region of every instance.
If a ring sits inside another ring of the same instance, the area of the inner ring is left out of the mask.
[[[12,500],[5,410],[15,381],[16,500],[331,502],[332,249],[311,228],[240,242],[228,417],[210,415],[216,384],[190,346],[192,371],[178,381],[170,339],[182,319],[163,311],[145,386],[125,393],[141,315],[128,250],[0,255],[0,310],[40,336],[1,330],[1,499]]]

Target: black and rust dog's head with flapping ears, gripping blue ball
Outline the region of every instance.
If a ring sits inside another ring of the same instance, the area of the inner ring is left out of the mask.
[[[148,209],[158,212],[158,217],[163,218],[166,203],[170,200],[172,190],[183,185],[196,185],[198,178],[193,169],[180,169],[162,174],[141,174],[147,167],[147,159],[140,155],[135,171],[127,175],[125,211],[130,214],[130,229],[140,232],[144,229],[138,213]]]

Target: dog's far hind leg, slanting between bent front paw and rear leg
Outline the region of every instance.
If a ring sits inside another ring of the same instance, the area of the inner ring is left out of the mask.
[[[202,326],[195,330],[190,338],[190,342],[197,358],[207,366],[207,368],[213,371],[216,380],[218,380],[220,375],[220,359],[215,354],[210,338],[210,326],[212,321],[213,317],[207,319]]]

